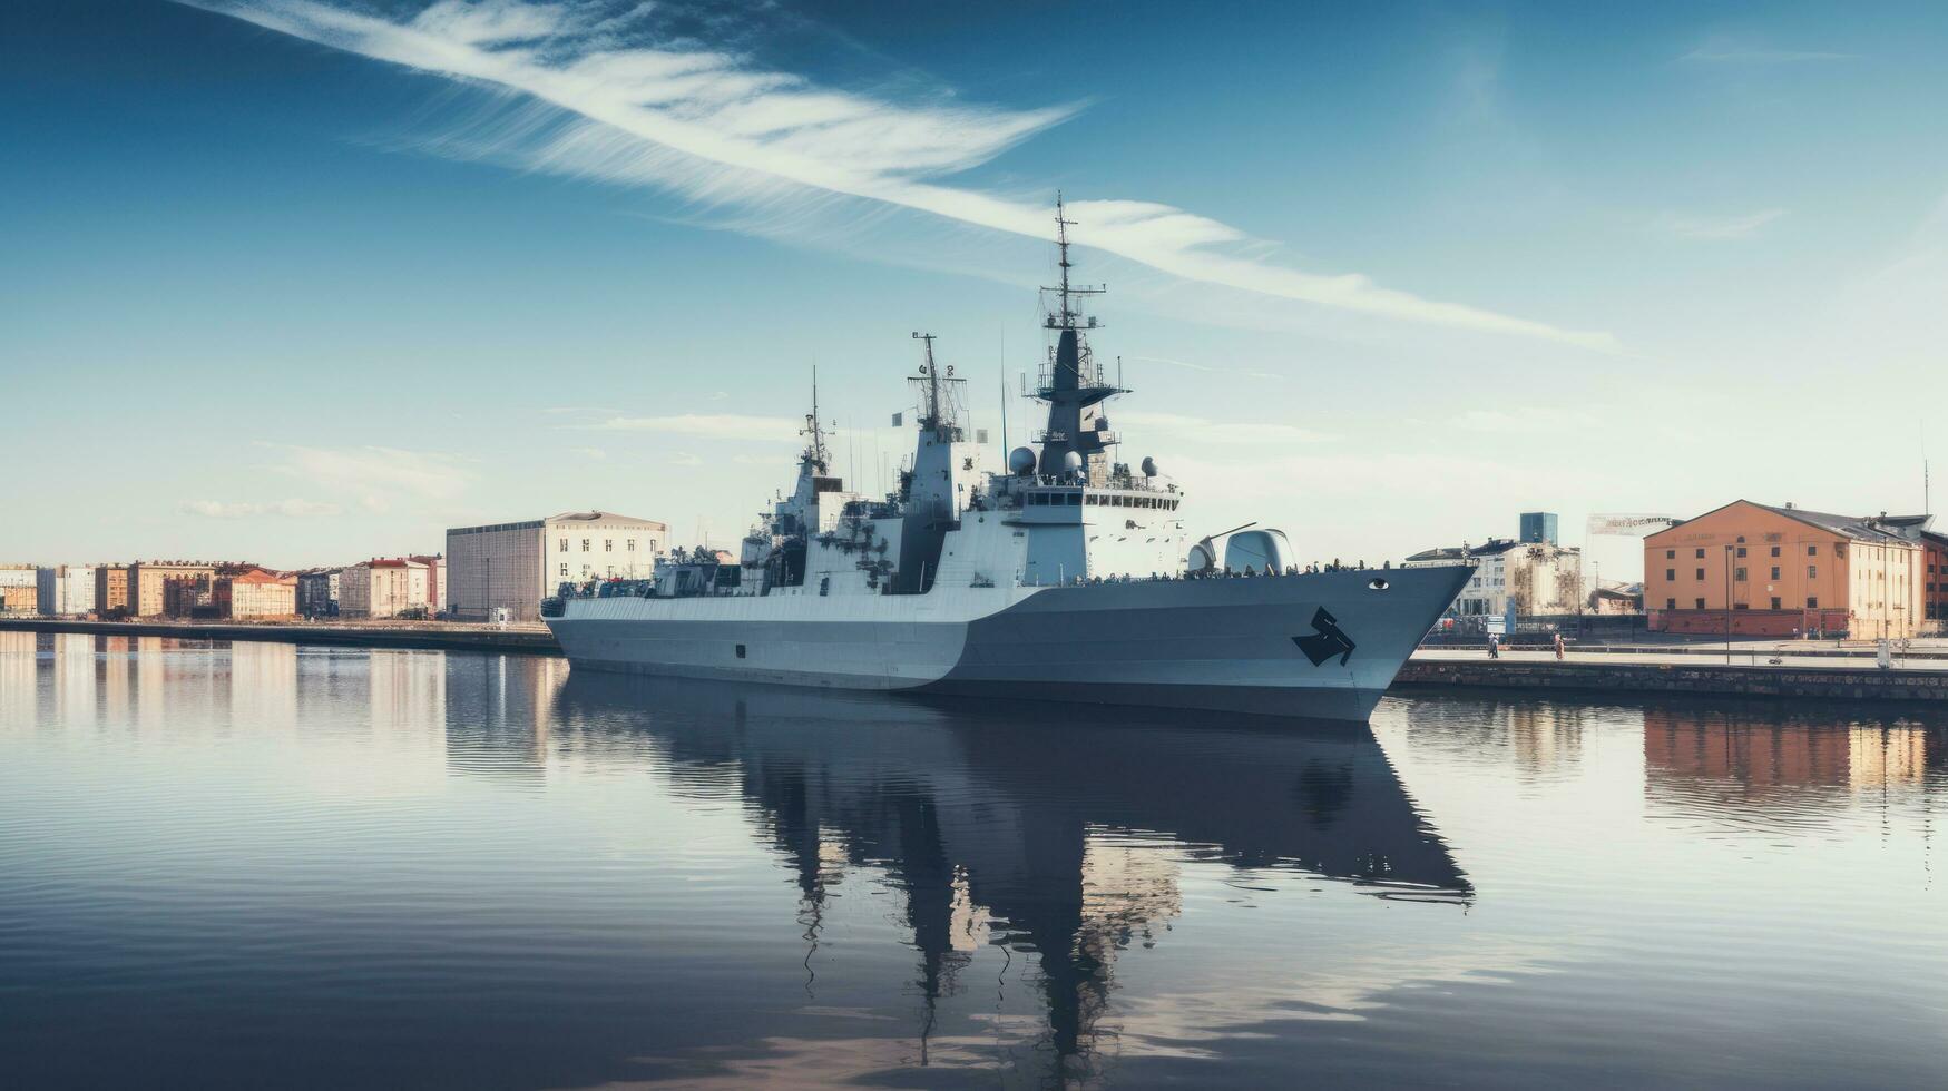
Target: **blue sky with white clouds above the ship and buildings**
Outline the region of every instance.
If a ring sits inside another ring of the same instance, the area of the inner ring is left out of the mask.
[[[4,19],[6,559],[734,538],[814,364],[867,487],[912,329],[997,425],[1056,189],[1194,528],[1377,561],[1523,508],[1917,508],[1948,452],[1938,4]]]

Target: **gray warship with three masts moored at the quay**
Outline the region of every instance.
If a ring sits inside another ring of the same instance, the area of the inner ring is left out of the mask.
[[[1056,205],[1034,446],[999,468],[964,378],[916,333],[914,454],[869,497],[832,471],[816,394],[787,497],[736,557],[676,553],[647,584],[563,588],[543,620],[577,670],[1366,721],[1465,567],[1301,573],[1278,530],[1192,536],[1153,458],[1118,462],[1128,394],[1089,347]],[[904,421],[902,421],[904,423]]]

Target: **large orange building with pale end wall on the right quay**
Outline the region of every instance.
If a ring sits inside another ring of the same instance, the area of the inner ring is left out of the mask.
[[[1911,524],[1751,501],[1679,522],[1644,540],[1650,627],[1913,637],[1927,620],[1927,549],[1901,534]]]

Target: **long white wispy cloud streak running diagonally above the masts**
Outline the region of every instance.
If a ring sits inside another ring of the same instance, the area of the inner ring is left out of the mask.
[[[393,21],[318,0],[181,0],[376,60],[516,92],[514,111],[436,140],[454,156],[649,185],[738,208],[762,230],[832,201],[929,212],[1042,238],[1048,208],[939,179],[1071,117],[1075,105],[978,107],[937,94],[898,103],[818,88],[744,56],[631,29],[623,6],[438,0]],[[1091,247],[1163,273],[1381,320],[1541,337],[1611,351],[1607,333],[1422,298],[1358,273],[1307,273],[1262,259],[1245,232],[1149,201],[1069,207]]]

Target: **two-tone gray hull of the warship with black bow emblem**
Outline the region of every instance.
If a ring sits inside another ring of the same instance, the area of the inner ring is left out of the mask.
[[[549,627],[579,670],[1364,721],[1467,575],[596,598]]]

